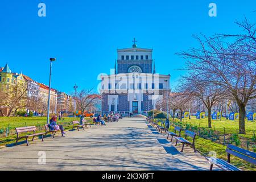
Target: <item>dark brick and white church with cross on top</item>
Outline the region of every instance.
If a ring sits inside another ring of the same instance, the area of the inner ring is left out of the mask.
[[[170,92],[170,75],[156,73],[152,49],[117,49],[117,61],[110,75],[101,75],[102,113],[146,113],[159,109]]]

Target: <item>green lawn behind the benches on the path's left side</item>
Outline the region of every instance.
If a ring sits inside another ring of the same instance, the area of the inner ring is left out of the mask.
[[[92,122],[92,118],[85,118]],[[63,125],[65,130],[72,129],[72,121],[80,120],[80,118],[64,117],[62,120],[57,120],[59,125]],[[36,126],[39,131],[45,131],[47,117],[0,117],[0,146],[14,143],[15,141],[15,127]],[[6,128],[9,127],[9,135],[6,137]]]

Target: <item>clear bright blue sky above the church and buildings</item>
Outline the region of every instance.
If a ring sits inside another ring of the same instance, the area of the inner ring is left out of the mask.
[[[46,3],[46,17],[38,4]],[[217,5],[217,17],[208,5]],[[1,0],[0,66],[9,64],[38,82],[48,84],[49,57],[52,87],[63,92],[97,89],[97,76],[110,73],[117,48],[153,48],[156,72],[171,74],[171,86],[184,72],[184,60],[175,52],[196,46],[193,34],[236,33],[234,21],[244,16],[256,21],[256,1],[195,0]]]

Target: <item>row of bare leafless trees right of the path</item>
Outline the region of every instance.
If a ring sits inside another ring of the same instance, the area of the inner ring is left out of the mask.
[[[173,113],[180,110],[182,118],[183,111],[198,100],[207,108],[208,126],[212,127],[213,106],[236,101],[239,133],[245,134],[245,108],[256,98],[256,27],[247,19],[236,24],[242,34],[193,36],[199,46],[177,53],[186,60],[187,74],[181,78],[177,93],[170,94],[169,107]]]

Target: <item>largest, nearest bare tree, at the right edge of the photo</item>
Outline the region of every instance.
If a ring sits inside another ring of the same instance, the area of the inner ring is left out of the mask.
[[[215,35],[203,39],[195,36],[199,48],[180,52],[187,67],[201,75],[204,82],[220,86],[239,106],[239,132],[245,134],[245,107],[256,97],[255,24],[247,19],[237,22],[245,31],[237,35]]]

